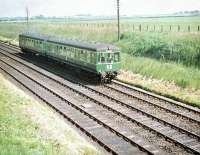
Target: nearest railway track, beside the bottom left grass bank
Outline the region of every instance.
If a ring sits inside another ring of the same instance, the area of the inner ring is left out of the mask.
[[[158,149],[149,146],[141,141],[141,138],[136,135],[128,136],[122,135],[116,129],[108,126],[104,122],[108,120],[100,120],[94,114],[91,114],[81,109],[75,104],[75,100],[67,98],[61,92],[56,92],[54,88],[48,88],[45,81],[38,81],[32,76],[27,75],[16,66],[2,60],[5,55],[0,57],[0,68],[6,74],[15,79],[18,83],[23,85],[30,92],[39,97],[42,101],[56,109],[60,114],[67,118],[72,124],[78,127],[86,135],[91,137],[95,142],[104,147],[112,154],[158,154]],[[144,146],[138,143],[143,143]]]

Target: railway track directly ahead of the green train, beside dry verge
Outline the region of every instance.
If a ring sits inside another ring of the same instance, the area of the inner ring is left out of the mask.
[[[148,102],[159,109],[200,124],[200,109],[198,108],[187,106],[186,104],[155,95],[116,80],[112,81],[112,85],[106,85],[106,87],[118,91],[128,97]]]

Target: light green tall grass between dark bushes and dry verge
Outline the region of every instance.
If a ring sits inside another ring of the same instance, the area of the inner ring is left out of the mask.
[[[146,77],[171,81],[182,88],[200,89],[200,70],[194,67],[145,57],[130,57],[123,53],[122,68]]]

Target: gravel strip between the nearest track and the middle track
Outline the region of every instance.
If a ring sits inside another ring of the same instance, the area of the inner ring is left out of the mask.
[[[132,135],[132,134],[135,135],[136,134],[136,135],[138,135],[138,137],[143,137],[144,135],[139,134],[139,133],[146,133],[145,138],[148,137],[148,134],[151,135],[149,137],[152,137],[152,134],[149,131],[145,131],[145,129],[138,126],[137,124],[134,124],[130,121],[127,121],[126,119],[120,117],[117,114],[114,114],[111,111],[108,111],[107,109],[105,109],[102,106],[99,106],[98,104],[92,102],[91,100],[79,95],[78,93],[73,92],[69,89],[66,89],[65,87],[63,87],[61,85],[58,85],[56,82],[54,82],[54,81],[52,81],[52,80],[50,80],[50,79],[48,79],[44,76],[41,76],[41,74],[34,72],[34,71],[30,70],[29,68],[24,67],[19,63],[16,63],[13,60],[9,60],[9,62],[12,62],[14,64],[14,66],[16,66],[18,69],[22,69],[23,72],[29,73],[29,75],[32,78],[37,78],[37,80],[40,81],[41,83],[46,84],[46,86],[48,86],[48,87],[52,87],[52,89],[54,89],[54,90],[57,90],[58,92],[60,92],[59,94],[62,94],[62,96],[65,96],[65,97],[70,96],[70,98],[72,98],[76,101],[77,106],[86,110],[87,112],[92,113],[92,114],[97,115],[97,116],[99,115],[101,117],[101,119],[103,119],[103,120],[112,120],[112,121],[107,122],[107,123],[112,127],[120,129],[121,131],[126,131],[126,133],[125,133],[126,135]],[[81,90],[81,88],[79,90]],[[136,133],[133,130],[135,128],[139,128],[140,130],[138,130],[137,133]],[[144,132],[142,132],[143,130],[144,130]],[[157,135],[154,134],[154,139],[156,139],[156,137],[159,138]],[[164,144],[165,140],[163,138],[161,138],[161,139],[162,139],[162,144]],[[153,144],[155,146],[156,146],[156,144],[159,145],[159,143],[152,143],[152,142],[153,141],[151,140],[151,144]],[[154,142],[156,142],[156,141],[154,141]],[[157,147],[159,147],[159,146],[157,146]],[[166,148],[168,148],[168,147],[166,146]],[[171,153],[171,152],[174,151],[174,150],[171,150],[170,147],[168,148],[168,150],[169,150],[168,153]]]

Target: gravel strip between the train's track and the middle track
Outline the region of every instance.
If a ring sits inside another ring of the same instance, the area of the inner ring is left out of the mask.
[[[166,112],[164,110],[161,110],[159,108],[154,107],[153,105],[150,105],[146,102],[139,101],[137,99],[133,99],[131,97],[127,97],[124,94],[121,94],[117,91],[110,91],[109,88],[106,88],[104,86],[95,86],[96,90],[100,92],[107,92],[107,95],[112,96],[113,98],[116,98],[119,101],[126,102],[128,105],[132,105],[134,107],[137,107],[138,109],[142,109],[147,113],[150,113],[158,118],[161,118],[167,122],[170,122],[174,125],[177,125],[179,127],[182,127],[184,129],[187,129],[191,132],[196,133],[197,135],[200,135],[200,126],[197,123],[191,122],[188,119],[178,117],[174,114],[171,114],[169,112]]]

